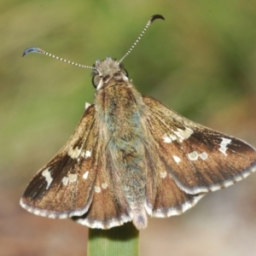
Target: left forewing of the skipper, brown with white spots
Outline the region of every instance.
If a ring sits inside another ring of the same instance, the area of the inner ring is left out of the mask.
[[[97,170],[95,108],[84,112],[73,136],[28,184],[20,205],[49,218],[82,215],[90,207]]]

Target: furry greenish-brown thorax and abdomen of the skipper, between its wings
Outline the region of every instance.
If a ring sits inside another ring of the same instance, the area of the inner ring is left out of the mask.
[[[103,65],[101,72],[108,68],[112,71],[111,67]],[[145,225],[145,151],[148,137],[143,120],[146,106],[131,81],[127,77],[122,78],[124,75],[119,68],[110,75],[105,74],[111,78],[108,82],[102,78],[102,87],[96,91],[95,97],[96,122],[101,128],[99,141],[107,145],[103,157],[108,161],[103,162],[106,162],[113,188],[120,201],[122,196],[125,197],[134,218],[139,218],[137,221]]]

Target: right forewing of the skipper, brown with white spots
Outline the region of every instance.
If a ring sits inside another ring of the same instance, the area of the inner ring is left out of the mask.
[[[143,101],[148,106],[148,129],[165,170],[186,193],[223,189],[256,170],[252,146],[195,124],[153,98]]]

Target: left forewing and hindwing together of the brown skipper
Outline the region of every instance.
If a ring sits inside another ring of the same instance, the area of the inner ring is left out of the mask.
[[[109,229],[131,221],[129,207],[113,195],[111,178],[104,172],[101,153],[106,145],[99,143],[96,125],[95,108],[90,106],[66,145],[32,178],[20,200],[22,207],[49,218],[75,216],[90,228]]]

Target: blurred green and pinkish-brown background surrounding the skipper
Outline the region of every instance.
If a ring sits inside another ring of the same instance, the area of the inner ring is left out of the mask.
[[[120,59],[137,89],[203,125],[256,146],[256,2],[17,1],[0,3],[0,255],[85,255],[87,228],[19,206],[32,176],[66,143],[93,102],[84,65]],[[207,195],[182,216],[150,219],[142,255],[253,255],[256,177]]]

